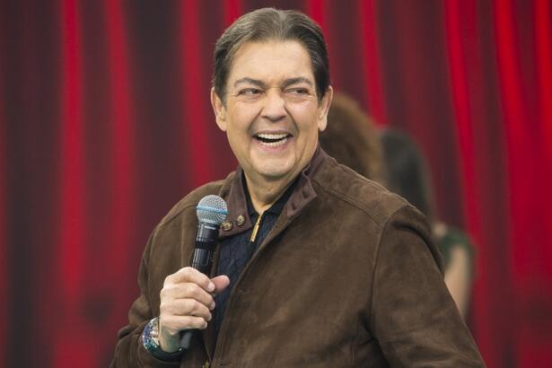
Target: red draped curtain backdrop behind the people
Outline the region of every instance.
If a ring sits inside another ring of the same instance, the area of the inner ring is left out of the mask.
[[[236,165],[211,55],[266,5],[320,22],[336,90],[422,145],[440,215],[477,244],[488,366],[549,366],[548,0],[2,1],[0,365],[108,364],[149,232]]]

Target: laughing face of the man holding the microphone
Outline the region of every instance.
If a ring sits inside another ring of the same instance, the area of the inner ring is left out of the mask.
[[[332,95],[330,88],[317,100],[307,50],[296,41],[245,43],[235,54],[226,91],[225,106],[211,92],[216,122],[246,176],[293,180],[316,150]]]

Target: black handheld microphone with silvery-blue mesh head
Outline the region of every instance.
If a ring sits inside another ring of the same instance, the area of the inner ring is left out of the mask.
[[[213,265],[218,229],[228,215],[228,206],[224,199],[215,195],[201,198],[196,207],[197,234],[196,249],[192,258],[192,267],[199,272],[209,275]],[[188,350],[194,329],[182,332],[180,347]]]

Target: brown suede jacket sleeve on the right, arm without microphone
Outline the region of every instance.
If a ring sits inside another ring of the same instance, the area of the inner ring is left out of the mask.
[[[372,286],[372,332],[391,367],[485,367],[429,238],[412,206],[385,225]]]

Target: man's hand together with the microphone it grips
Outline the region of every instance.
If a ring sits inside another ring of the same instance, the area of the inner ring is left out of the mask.
[[[197,205],[197,235],[192,267],[183,267],[165,278],[161,291],[159,343],[163,351],[187,349],[193,330],[206,329],[215,309],[213,296],[230,283],[227,276],[208,276],[218,238],[227,215],[221,197],[206,196]],[[184,331],[180,337],[180,331]]]

